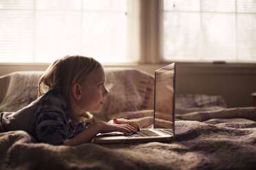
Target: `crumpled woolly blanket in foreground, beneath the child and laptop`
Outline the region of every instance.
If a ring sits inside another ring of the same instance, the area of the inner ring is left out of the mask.
[[[1,169],[255,169],[256,123],[176,121],[170,143],[76,147],[33,143],[23,131],[0,134]]]

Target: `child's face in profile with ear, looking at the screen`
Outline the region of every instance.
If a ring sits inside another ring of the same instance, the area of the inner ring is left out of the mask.
[[[105,86],[105,72],[102,66],[89,73],[86,80],[80,84],[81,97],[76,105],[83,112],[100,112],[108,91]]]

